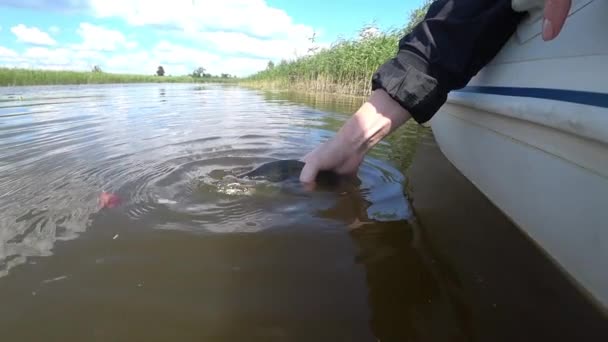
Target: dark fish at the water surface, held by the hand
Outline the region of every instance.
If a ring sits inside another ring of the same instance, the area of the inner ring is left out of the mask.
[[[263,179],[269,182],[283,182],[299,180],[304,162],[299,160],[277,160],[266,163],[239,177]],[[337,186],[347,176],[339,175],[333,171],[319,171],[315,182],[321,186]]]

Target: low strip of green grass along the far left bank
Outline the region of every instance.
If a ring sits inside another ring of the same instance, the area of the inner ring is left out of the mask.
[[[101,83],[203,83],[235,82],[234,78],[194,78],[191,76],[152,76],[106,72],[52,71],[0,68],[0,86],[101,84]]]

